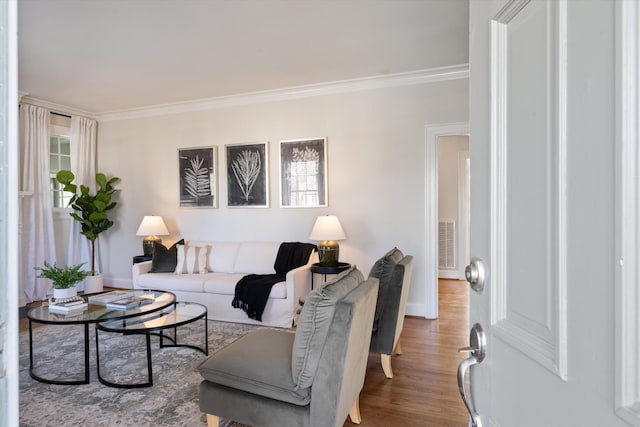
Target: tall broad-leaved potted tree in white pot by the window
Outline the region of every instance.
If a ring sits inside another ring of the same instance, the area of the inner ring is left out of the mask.
[[[95,273],[95,243],[102,232],[113,226],[113,221],[109,219],[109,211],[117,205],[117,202],[113,201],[112,197],[116,191],[114,184],[120,181],[120,178],[107,179],[103,173],[97,173],[95,194],[90,194],[87,186],[80,185],[80,188],[78,188],[73,183],[74,179],[75,175],[68,170],[61,170],[56,174],[56,180],[64,186],[63,190],[73,193],[71,200],[69,200],[69,206],[74,212],[69,215],[80,223],[80,233],[91,242],[91,270],[90,277],[85,280],[85,292],[99,292],[102,291],[102,276]],[[89,279],[91,278],[96,278],[97,283],[89,285]]]

